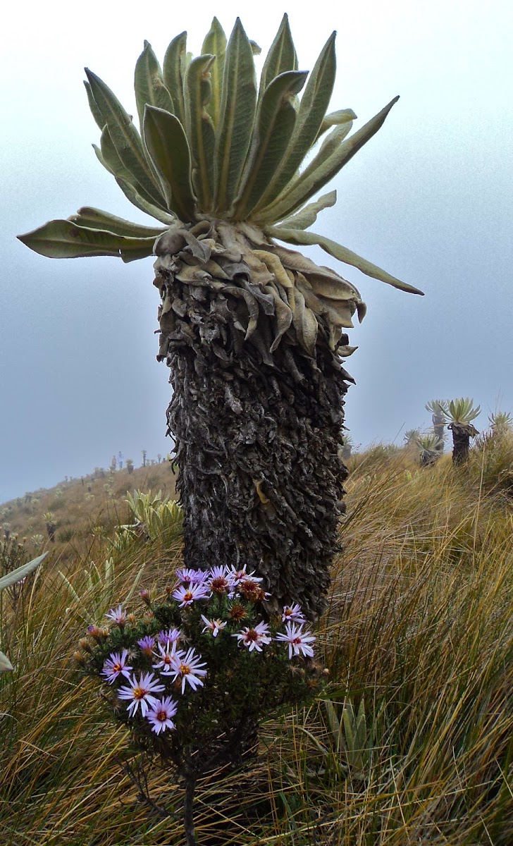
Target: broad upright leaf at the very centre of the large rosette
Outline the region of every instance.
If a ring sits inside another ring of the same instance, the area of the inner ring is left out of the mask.
[[[255,108],[253,51],[237,18],[226,47],[221,113],[216,134],[215,206],[218,211],[226,211],[237,194],[253,133]]]

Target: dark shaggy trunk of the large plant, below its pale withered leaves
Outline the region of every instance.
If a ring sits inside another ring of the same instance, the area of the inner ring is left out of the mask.
[[[276,322],[264,310],[248,343],[247,300],[201,279],[183,283],[175,267],[171,255],[156,262],[183,563],[246,565],[265,577],[276,607],[299,602],[314,618],[325,609],[343,510],[339,449],[351,377],[324,335],[312,356],[289,334],[270,355]]]

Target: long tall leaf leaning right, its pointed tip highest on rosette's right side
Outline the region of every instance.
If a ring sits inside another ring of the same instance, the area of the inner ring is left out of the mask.
[[[269,185],[259,202],[259,208],[276,200],[297,173],[308,150],[314,145],[319,127],[330,103],[336,74],[335,37],[333,32],[314,64],[297,113],[296,128],[287,155],[281,162],[276,179]],[[349,131],[349,130],[347,130]]]

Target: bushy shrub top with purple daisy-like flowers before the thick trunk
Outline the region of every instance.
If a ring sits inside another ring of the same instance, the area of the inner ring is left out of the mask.
[[[183,568],[177,579],[166,602],[141,591],[139,618],[112,608],[108,627],[91,626],[80,641],[77,657],[106,684],[118,718],[146,739],[195,733],[200,747],[214,726],[218,735],[243,714],[258,719],[307,697],[315,667],[303,659],[314,656],[315,637],[297,604],[263,619],[269,595],[245,568]]]

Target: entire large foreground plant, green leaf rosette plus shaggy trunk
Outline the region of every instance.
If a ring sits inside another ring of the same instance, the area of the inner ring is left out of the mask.
[[[346,329],[366,307],[354,284],[290,245],[317,244],[422,293],[310,229],[336,202],[334,190],[319,192],[397,100],[353,133],[352,109],[329,111],[335,36],[308,74],[285,15],[259,81],[239,19],[226,40],[214,18],[195,58],[185,32],[162,65],[145,42],[134,77],[139,129],[86,69],[96,156],[156,223],[85,206],[19,236],[57,258],[156,255],[184,563],[231,565],[243,554],[278,603],[300,602],[310,616],[325,606],[347,475],[337,458],[352,381],[341,361],[355,349]]]

